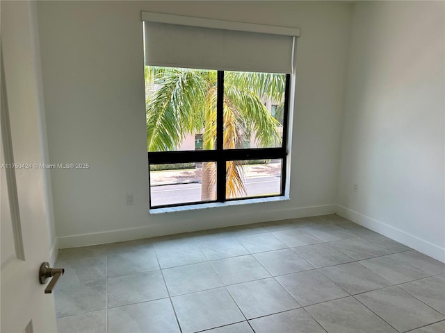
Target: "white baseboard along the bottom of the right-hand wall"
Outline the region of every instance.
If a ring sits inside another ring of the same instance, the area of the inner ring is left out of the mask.
[[[428,241],[420,239],[412,234],[409,234],[398,228],[394,228],[391,225],[387,225],[381,221],[372,219],[369,216],[355,212],[341,205],[337,205],[337,214],[345,217],[359,225],[371,229],[379,234],[386,237],[394,239],[401,244],[414,248],[414,250],[419,251],[429,257],[439,260],[440,262],[445,262],[445,248],[441,248],[435,244],[431,244]]]

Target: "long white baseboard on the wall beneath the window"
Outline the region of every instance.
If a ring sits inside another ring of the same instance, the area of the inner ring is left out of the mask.
[[[212,224],[209,220],[205,221],[178,221],[170,223],[161,223],[157,225],[147,225],[140,228],[129,228],[121,230],[111,230],[106,232],[92,232],[88,234],[75,234],[71,236],[58,237],[58,248],[76,248],[79,246],[90,246],[97,244],[113,243],[116,241],[130,241],[133,239],[142,239],[148,237],[164,236],[167,234],[177,234],[180,232],[193,232],[197,230],[207,230],[213,228],[224,228],[233,225],[243,225],[251,223],[260,223],[266,221],[276,221],[283,219],[295,219],[298,217],[309,217],[325,214],[333,214],[337,210],[337,205],[318,205],[310,207],[298,207],[286,210],[269,210],[267,212],[250,212],[245,214],[223,214],[214,216]],[[181,214],[172,212],[165,214]],[[277,216],[280,216],[277,218]],[[242,221],[240,223],[240,221]]]

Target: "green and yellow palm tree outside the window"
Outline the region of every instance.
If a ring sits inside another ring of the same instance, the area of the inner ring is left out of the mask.
[[[188,133],[203,130],[204,150],[216,143],[217,72],[197,69],[145,67],[148,151],[171,151]],[[257,146],[271,147],[280,142],[277,126],[261,98],[281,102],[285,76],[248,72],[225,72],[225,149],[239,148],[243,137],[254,133]],[[242,162],[226,166],[227,197],[245,194]],[[204,163],[202,200],[214,200],[216,166]]]

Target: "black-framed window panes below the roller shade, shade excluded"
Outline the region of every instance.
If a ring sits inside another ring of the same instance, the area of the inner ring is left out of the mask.
[[[151,207],[284,195],[286,131],[261,99],[286,103],[289,75],[145,72]]]

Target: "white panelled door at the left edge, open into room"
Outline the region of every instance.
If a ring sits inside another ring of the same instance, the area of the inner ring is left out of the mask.
[[[49,261],[39,127],[35,3],[0,1],[1,332],[56,332],[54,296],[38,281]],[[8,167],[8,166],[6,166]]]

